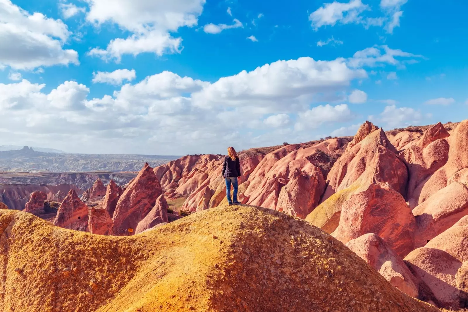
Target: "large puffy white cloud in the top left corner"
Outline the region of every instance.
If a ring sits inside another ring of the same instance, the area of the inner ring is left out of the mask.
[[[0,1],[0,68],[34,69],[40,66],[79,64],[78,53],[64,50],[70,36],[60,20],[41,13],[30,15],[9,0]]]

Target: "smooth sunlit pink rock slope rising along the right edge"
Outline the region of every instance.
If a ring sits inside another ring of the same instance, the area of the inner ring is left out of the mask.
[[[468,120],[462,121],[447,141],[450,145],[446,164],[425,181],[419,196],[419,203],[448,185],[448,181],[459,171],[468,168]],[[456,180],[455,180],[456,181]]]

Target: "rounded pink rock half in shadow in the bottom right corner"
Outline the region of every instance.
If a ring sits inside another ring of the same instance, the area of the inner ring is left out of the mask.
[[[432,301],[440,308],[460,307],[464,281],[457,277],[459,271],[465,271],[461,261],[442,250],[426,247],[413,250],[404,260],[416,277],[419,299]]]

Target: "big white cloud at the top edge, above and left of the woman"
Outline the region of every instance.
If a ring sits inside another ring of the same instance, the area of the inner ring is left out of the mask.
[[[205,0],[86,0],[89,12],[86,19],[100,27],[103,23],[117,24],[128,30],[127,38],[111,40],[105,49],[99,47],[89,55],[105,60],[120,61],[122,55],[149,52],[161,56],[180,52],[181,37],[172,37],[181,27],[197,25]]]

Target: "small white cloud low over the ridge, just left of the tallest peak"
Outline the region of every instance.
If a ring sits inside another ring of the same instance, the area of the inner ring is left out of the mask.
[[[298,131],[317,128],[324,123],[343,122],[354,119],[354,115],[346,104],[331,106],[319,105],[310,110],[300,112],[294,128]]]

